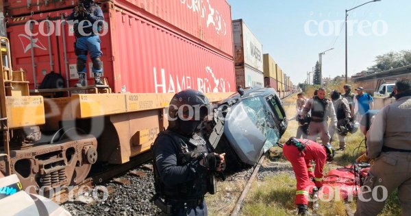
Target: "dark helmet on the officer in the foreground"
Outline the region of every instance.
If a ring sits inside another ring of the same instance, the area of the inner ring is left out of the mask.
[[[208,98],[203,93],[186,89],[176,93],[170,101],[169,106],[169,125],[175,125],[176,119],[190,120],[194,118],[201,121],[208,115]],[[184,119],[190,118],[190,119]]]

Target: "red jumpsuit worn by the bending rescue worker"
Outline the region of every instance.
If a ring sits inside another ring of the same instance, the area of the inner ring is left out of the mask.
[[[308,139],[298,139],[301,143],[306,144],[306,150],[300,152],[293,144],[283,147],[283,154],[290,161],[292,169],[297,179],[297,192],[295,193],[295,204],[308,204],[308,195],[312,192],[314,183],[310,178],[315,180],[315,186],[323,186],[323,167],[327,160],[325,147]],[[315,168],[312,173],[310,161],[314,160]]]

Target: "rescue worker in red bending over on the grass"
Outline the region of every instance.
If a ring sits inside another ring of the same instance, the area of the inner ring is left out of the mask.
[[[332,145],[321,145],[308,139],[290,137],[283,146],[283,154],[290,161],[297,179],[295,204],[299,215],[308,215],[308,195],[312,189],[323,187],[323,167],[334,158]],[[315,162],[314,173],[311,161]]]

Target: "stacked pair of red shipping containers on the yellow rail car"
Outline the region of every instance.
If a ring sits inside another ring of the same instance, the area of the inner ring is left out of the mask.
[[[26,71],[30,88],[38,88],[50,71],[61,73],[65,86],[77,82],[73,23],[64,21],[75,4],[77,1],[5,1],[13,67]],[[201,1],[198,10],[193,10],[191,1],[111,0],[98,4],[105,18],[100,36],[103,76],[115,93],[174,93],[186,88],[236,91],[227,1]],[[256,46],[252,53],[262,51]],[[87,66],[87,81],[93,84],[90,59]],[[252,82],[262,85],[264,81]]]

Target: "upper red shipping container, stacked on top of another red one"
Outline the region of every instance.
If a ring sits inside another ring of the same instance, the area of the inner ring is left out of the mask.
[[[8,0],[8,16],[38,14],[62,8],[73,8],[78,0]],[[107,1],[107,0],[103,0]],[[48,3],[47,3],[48,2]],[[225,0],[112,0],[116,6],[138,14],[176,34],[196,38],[196,43],[233,56],[231,7]],[[102,5],[101,3],[100,5]],[[27,7],[27,5],[31,5]],[[53,12],[52,12],[53,13]]]

